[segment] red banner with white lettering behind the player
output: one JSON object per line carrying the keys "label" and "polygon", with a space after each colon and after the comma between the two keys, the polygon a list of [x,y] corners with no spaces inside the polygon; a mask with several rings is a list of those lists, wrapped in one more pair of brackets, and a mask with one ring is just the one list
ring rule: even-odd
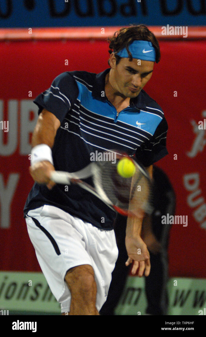
{"label": "red banner with white lettering behind the player", "polygon": [[[161,41],[160,47],[161,61],[144,89],[165,112],[169,155],[158,165],[176,192],[176,215],[187,216],[187,226],[173,224],[171,229],[170,276],[206,277],[206,44]],[[37,120],[33,99],[61,72],[103,71],[108,43],[0,42],[0,50],[0,268],[40,271],[23,218],[33,184],[28,172]]]}

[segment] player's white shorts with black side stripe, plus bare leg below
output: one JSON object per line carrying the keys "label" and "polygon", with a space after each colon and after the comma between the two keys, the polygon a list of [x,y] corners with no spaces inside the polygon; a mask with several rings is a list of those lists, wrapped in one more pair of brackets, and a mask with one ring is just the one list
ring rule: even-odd
{"label": "player's white shorts with black side stripe, plus bare leg below", "polygon": [[102,231],[49,205],[29,211],[26,222],[39,265],[61,311],[98,315],[118,255],[114,231]]}

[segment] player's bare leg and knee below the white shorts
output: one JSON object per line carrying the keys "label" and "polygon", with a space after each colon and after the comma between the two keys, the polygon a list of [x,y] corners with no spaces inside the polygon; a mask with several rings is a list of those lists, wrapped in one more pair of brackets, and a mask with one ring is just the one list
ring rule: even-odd
{"label": "player's bare leg and knee below the white shorts", "polygon": [[68,270],[65,281],[71,292],[69,315],[99,315],[96,308],[97,285],[90,265]]}

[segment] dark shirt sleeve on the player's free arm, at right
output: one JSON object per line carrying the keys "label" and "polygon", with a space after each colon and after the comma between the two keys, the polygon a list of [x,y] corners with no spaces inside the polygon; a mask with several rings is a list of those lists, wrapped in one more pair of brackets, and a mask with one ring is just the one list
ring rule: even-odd
{"label": "dark shirt sleeve on the player's free arm, at right", "polygon": [[168,154],[166,148],[167,130],[167,121],[163,117],[151,139],[136,150],[136,159],[145,167],[152,165]]}

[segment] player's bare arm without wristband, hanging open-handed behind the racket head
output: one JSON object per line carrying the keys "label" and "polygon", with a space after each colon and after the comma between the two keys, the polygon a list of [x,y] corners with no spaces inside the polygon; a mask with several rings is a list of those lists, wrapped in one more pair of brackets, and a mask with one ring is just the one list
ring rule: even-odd
{"label": "player's bare arm without wristband, hanging open-handed behind the racket head", "polygon": [[[152,179],[152,165],[146,167],[150,178]],[[139,268],[138,276],[141,277],[145,270],[145,276],[150,272],[149,252],[146,244],[140,237],[143,218],[128,217],[125,244],[128,253],[126,266],[134,261],[132,274],[135,275]]]}

